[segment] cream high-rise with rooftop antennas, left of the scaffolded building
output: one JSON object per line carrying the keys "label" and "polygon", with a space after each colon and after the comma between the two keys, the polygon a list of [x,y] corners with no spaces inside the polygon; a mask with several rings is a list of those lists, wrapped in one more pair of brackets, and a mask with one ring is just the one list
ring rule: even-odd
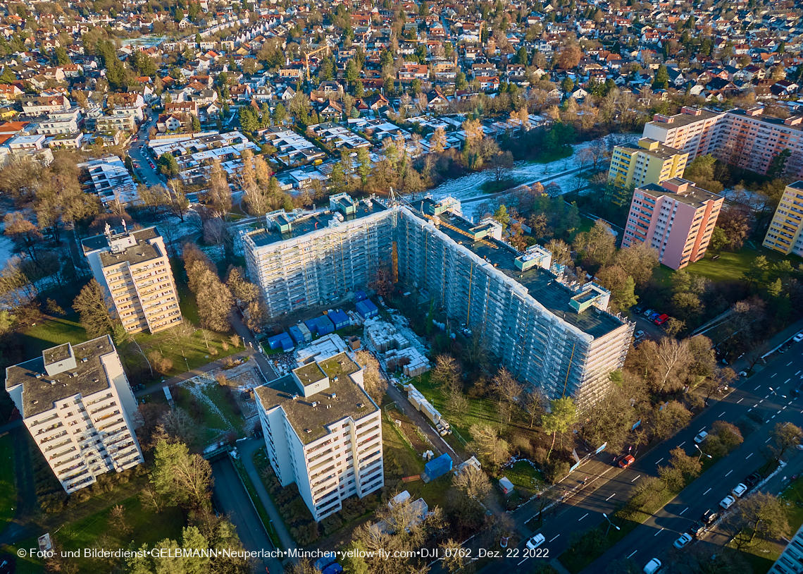
{"label": "cream high-rise with rooftop antennas, left of the scaffolded building", "polygon": [[81,241],[92,274],[114,301],[125,330],[150,333],[181,322],[173,271],[157,228],[112,230]]}

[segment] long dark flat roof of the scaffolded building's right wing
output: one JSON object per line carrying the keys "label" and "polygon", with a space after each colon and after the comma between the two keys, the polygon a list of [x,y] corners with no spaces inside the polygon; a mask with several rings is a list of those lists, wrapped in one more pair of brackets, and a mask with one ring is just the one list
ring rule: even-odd
{"label": "long dark flat roof of the scaffolded building's right wing", "polygon": [[471,237],[464,235],[463,232],[469,232],[475,228],[473,223],[469,223],[449,211],[443,212],[439,217],[442,222],[460,230],[455,231],[455,229],[440,225],[438,228],[441,232],[477,256],[495,264],[496,269],[523,285],[530,296],[569,325],[577,327],[594,338],[603,337],[622,326],[622,321],[613,315],[597,313],[596,307],[578,314],[570,305],[570,301],[580,292],[573,292],[569,287],[561,284],[557,281],[556,276],[546,269],[533,267],[527,271],[521,271],[516,267],[516,257],[520,256],[520,253],[501,241],[491,237],[474,241]]}

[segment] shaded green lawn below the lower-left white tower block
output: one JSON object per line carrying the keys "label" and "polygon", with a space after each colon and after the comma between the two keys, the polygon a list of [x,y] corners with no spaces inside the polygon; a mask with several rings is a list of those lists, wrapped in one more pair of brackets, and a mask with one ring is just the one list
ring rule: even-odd
{"label": "shaded green lawn below the lower-left white tower block", "polygon": [[[120,532],[112,526],[109,515],[112,506],[100,510],[94,515],[75,523],[68,524],[55,535],[55,542],[64,551],[75,551],[82,548],[141,547],[142,544],[152,546],[160,540],[169,538],[181,539],[181,528],[184,527],[183,512],[177,506],[165,507],[158,515],[152,510],[142,507],[139,496],[132,496],[120,502],[124,507],[124,521],[131,528],[130,533]],[[79,558],[75,559],[79,572],[112,572],[113,564]]]}

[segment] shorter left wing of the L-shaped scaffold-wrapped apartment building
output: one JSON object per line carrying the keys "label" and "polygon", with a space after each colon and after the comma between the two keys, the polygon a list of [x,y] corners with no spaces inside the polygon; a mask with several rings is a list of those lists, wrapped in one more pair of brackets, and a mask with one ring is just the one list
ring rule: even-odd
{"label": "shorter left wing of the L-shaped scaffold-wrapped apartment building", "polygon": [[266,228],[243,234],[248,273],[271,317],[365,288],[390,252],[388,215],[377,201],[343,193],[317,211],[268,213]]}

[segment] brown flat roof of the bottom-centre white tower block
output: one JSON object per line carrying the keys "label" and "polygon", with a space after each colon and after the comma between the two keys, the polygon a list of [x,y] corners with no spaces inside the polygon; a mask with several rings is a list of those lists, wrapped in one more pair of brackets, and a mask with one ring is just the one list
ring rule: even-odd
{"label": "brown flat roof of the bottom-centre white tower block", "polygon": [[[322,361],[321,367],[329,377],[329,387],[306,398],[299,396],[300,390],[292,375],[285,375],[254,389],[266,411],[275,407],[283,408],[287,420],[304,445],[325,437],[329,433],[328,426],[338,420],[349,416],[358,420],[379,410],[351,377],[340,376],[357,372],[360,368],[349,359],[349,355],[335,355]],[[332,395],[335,397],[331,398]],[[293,396],[299,398],[294,400]],[[313,407],[313,404],[316,406]]]}

